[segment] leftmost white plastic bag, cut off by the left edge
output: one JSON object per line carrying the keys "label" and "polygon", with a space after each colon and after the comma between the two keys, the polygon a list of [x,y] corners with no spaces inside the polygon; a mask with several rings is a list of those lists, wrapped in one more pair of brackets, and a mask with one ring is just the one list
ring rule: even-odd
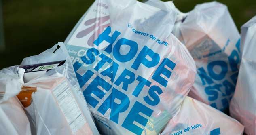
{"label": "leftmost white plastic bag, cut off by the left edge", "polygon": [[31,135],[30,122],[16,97],[21,91],[23,74],[18,66],[0,70],[1,135]]}

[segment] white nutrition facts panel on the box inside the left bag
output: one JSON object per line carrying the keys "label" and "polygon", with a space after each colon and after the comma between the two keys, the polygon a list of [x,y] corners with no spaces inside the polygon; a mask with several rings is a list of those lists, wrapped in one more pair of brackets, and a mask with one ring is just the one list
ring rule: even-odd
{"label": "white nutrition facts panel on the box inside the left bag", "polygon": [[76,133],[86,121],[65,79],[53,89],[53,94],[56,97],[72,132]]}

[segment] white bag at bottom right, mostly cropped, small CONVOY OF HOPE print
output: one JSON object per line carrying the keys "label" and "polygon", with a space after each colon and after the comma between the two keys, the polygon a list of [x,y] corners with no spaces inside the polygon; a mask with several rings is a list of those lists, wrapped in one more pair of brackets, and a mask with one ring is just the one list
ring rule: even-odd
{"label": "white bag at bottom right, mostly cropped, small CONVOY OF HOPE print", "polygon": [[226,114],[186,97],[161,135],[243,135],[243,125]]}

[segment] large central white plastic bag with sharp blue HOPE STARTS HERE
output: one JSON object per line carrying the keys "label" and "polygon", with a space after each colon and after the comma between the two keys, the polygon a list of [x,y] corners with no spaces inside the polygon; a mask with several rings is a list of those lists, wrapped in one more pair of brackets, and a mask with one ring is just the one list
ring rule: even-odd
{"label": "large central white plastic bag with sharp blue HOPE STARTS HERE", "polygon": [[151,2],[96,0],[65,41],[102,134],[159,134],[193,85],[173,3]]}

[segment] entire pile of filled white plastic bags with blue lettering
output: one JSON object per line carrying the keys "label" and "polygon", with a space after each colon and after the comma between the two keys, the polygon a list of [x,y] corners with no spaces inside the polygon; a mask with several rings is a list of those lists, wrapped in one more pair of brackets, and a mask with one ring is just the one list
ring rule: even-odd
{"label": "entire pile of filled white plastic bags with blue lettering", "polygon": [[0,134],[255,135],[255,31],[240,49],[218,2],[95,0],[64,43],[0,70]]}

